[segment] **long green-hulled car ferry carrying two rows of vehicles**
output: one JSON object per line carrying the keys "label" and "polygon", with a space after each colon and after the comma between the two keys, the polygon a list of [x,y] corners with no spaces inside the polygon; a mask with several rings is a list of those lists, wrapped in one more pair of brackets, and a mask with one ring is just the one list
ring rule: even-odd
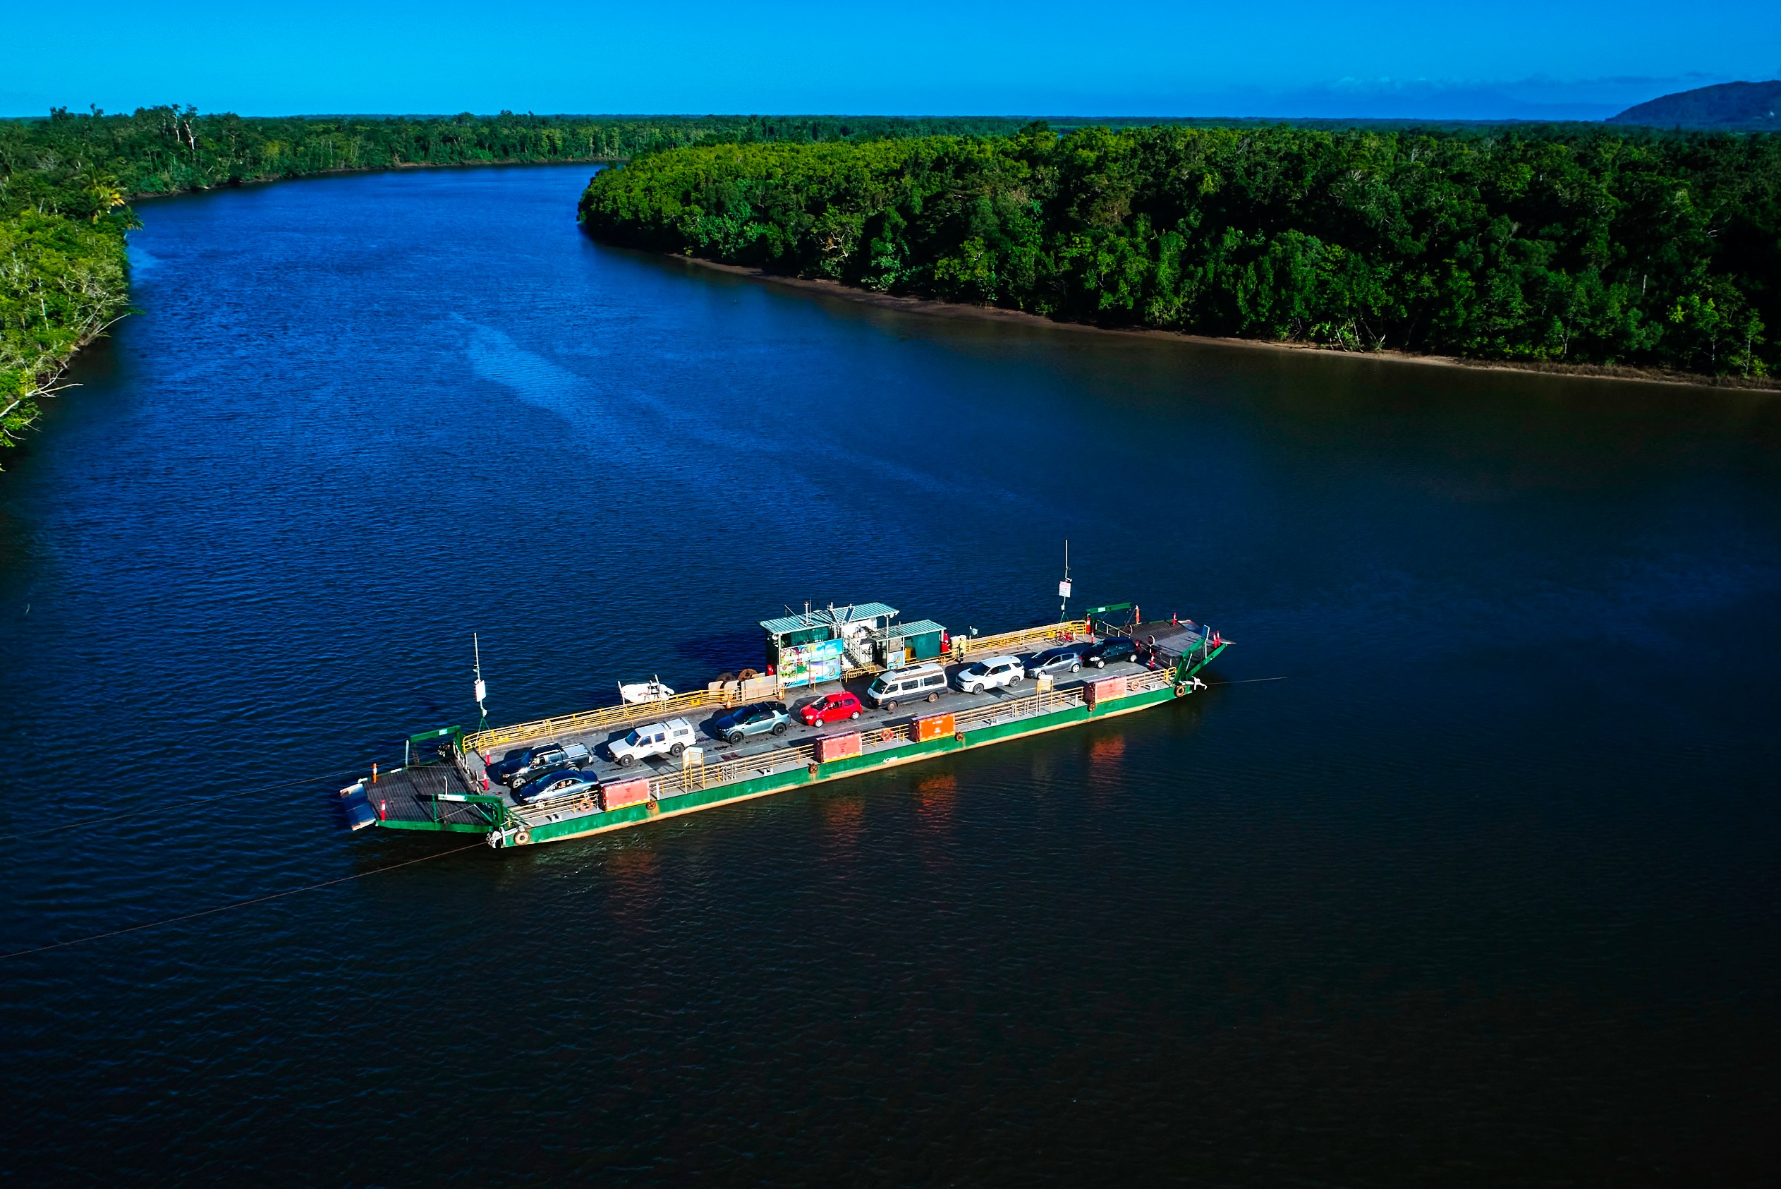
{"label": "long green-hulled car ferry carrying two rows of vehicles", "polygon": [[[1124,622],[1108,619],[1120,611]],[[648,690],[645,702],[410,736],[401,767],[374,765],[340,790],[347,825],[484,834],[497,850],[629,829],[1149,709],[1204,688],[1197,674],[1229,647],[1191,620],[1145,622],[1127,603],[990,636],[896,619],[894,608],[867,603],[760,620],[764,674],[744,668],[684,693],[654,681],[634,686]],[[899,681],[915,670],[924,677]],[[931,679],[937,670],[944,688]],[[985,674],[1001,676],[985,683]],[[760,708],[771,729],[732,731],[744,708]],[[636,742],[666,724],[679,724],[675,742],[638,759]],[[568,758],[557,770],[575,777],[556,783],[568,793],[533,784],[527,797],[502,783],[515,763],[557,749]]]}

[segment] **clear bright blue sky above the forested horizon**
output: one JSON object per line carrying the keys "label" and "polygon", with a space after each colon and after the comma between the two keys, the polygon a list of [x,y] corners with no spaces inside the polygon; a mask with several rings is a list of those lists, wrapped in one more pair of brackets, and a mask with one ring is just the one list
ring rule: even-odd
{"label": "clear bright blue sky above the forested horizon", "polygon": [[1492,5],[0,0],[0,114],[1610,116],[1781,77],[1769,0]]}

